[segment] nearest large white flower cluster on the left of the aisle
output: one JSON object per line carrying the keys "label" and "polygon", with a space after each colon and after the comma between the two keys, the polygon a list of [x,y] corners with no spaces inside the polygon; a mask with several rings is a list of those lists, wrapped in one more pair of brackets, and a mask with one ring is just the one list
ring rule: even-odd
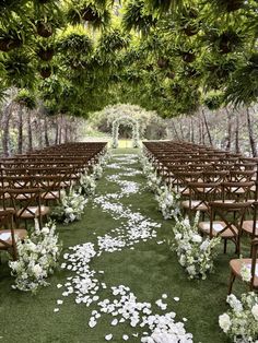
{"label": "nearest large white flower cluster on the left of the aisle", "polygon": [[54,273],[61,250],[55,223],[39,229],[35,221],[35,232],[24,241],[19,240],[16,246],[19,260],[9,262],[15,277],[12,288],[35,293],[39,286],[49,285],[46,279]]}

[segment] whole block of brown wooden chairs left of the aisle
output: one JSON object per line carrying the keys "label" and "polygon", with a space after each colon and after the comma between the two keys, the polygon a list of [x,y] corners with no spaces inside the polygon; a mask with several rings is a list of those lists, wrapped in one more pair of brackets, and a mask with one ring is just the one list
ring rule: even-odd
{"label": "whole block of brown wooden chairs left of the aisle", "polygon": [[15,260],[15,239],[27,236],[27,221],[37,218],[42,227],[49,204],[105,152],[106,143],[68,143],[0,159],[0,250]]}

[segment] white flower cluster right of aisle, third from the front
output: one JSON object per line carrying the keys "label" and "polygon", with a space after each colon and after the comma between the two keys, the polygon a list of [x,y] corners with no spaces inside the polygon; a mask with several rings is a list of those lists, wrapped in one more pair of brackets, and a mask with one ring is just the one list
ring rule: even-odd
{"label": "white flower cluster right of aisle, third from the front", "polygon": [[157,189],[155,199],[164,220],[180,215],[180,194],[175,190],[163,186],[160,190]]}

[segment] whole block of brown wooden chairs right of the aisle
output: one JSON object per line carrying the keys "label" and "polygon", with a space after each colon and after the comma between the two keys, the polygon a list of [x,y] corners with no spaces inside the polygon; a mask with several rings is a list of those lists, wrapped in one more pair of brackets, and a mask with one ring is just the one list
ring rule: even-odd
{"label": "whole block of brown wooden chairs right of the aisle", "polygon": [[[258,159],[186,142],[144,142],[143,146],[164,182],[180,193],[183,214],[201,213],[202,235],[221,236],[224,252],[232,240],[238,256],[243,233],[251,238],[251,258],[244,263],[250,265],[250,288],[258,287]],[[230,263],[230,293],[242,263],[241,259]]]}

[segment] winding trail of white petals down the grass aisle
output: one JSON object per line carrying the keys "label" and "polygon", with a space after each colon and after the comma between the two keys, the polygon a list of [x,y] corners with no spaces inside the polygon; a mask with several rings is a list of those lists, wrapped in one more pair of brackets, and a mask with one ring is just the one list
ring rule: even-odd
{"label": "winding trail of white petals down the grass aisle", "polygon": [[[97,247],[92,243],[85,243],[70,247],[70,253],[64,253],[66,260],[61,268],[74,272],[73,276],[67,277],[64,285],[57,285],[62,288],[62,296],[75,295],[77,304],[85,306],[97,305],[98,310],[93,310],[89,320],[89,327],[94,328],[102,315],[108,314],[110,318],[110,332],[107,332],[103,341],[118,339],[119,342],[128,341],[130,338],[139,338],[142,343],[185,343],[192,342],[192,335],[187,333],[184,322],[176,322],[175,312],[154,315],[150,303],[140,303],[137,296],[128,286],[118,285],[110,287],[110,298],[101,298],[101,291],[107,285],[103,282],[104,271],[95,271],[91,265],[92,259],[99,257],[103,252],[120,251],[125,248],[134,249],[133,245],[139,241],[146,241],[156,237],[155,228],[161,227],[140,212],[132,212],[130,206],[119,202],[124,197],[140,193],[141,185],[134,181],[124,180],[124,177],[141,174],[140,170],[129,167],[138,163],[137,155],[114,155],[114,163],[107,165],[109,169],[116,169],[116,174],[107,176],[106,179],[120,187],[119,192],[106,193],[94,199],[94,205],[102,211],[112,214],[114,220],[122,220],[120,227],[114,228],[104,236],[97,237]],[[160,244],[160,243],[157,243]],[[155,301],[155,306],[161,310],[166,310],[167,295],[163,294],[161,299]],[[174,297],[179,301],[178,297]],[[63,300],[57,300],[57,305],[62,305]],[[54,309],[59,311],[59,307]],[[187,319],[184,318],[183,321]],[[121,338],[113,336],[112,327],[122,322],[129,322],[133,328],[133,333],[125,333]],[[144,332],[139,333],[137,328],[144,328]]]}

